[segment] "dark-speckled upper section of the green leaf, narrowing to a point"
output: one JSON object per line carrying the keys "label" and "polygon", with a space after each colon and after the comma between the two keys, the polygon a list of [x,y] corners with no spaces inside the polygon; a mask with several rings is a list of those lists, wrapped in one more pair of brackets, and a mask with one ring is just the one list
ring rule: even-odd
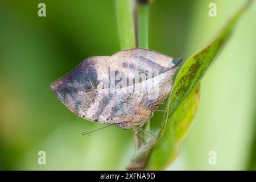
{"label": "dark-speckled upper section of the green leaf, narrowing to a point", "polygon": [[246,3],[246,6],[240,9],[232,19],[226,23],[226,26],[222,28],[216,38],[207,47],[195,53],[185,62],[176,77],[174,89],[172,90],[171,112],[179,106],[185,96],[187,96],[201,78],[203,78],[205,72],[216,59],[218,53],[221,52],[226,42],[228,42],[234,25],[248,6],[249,3]]}

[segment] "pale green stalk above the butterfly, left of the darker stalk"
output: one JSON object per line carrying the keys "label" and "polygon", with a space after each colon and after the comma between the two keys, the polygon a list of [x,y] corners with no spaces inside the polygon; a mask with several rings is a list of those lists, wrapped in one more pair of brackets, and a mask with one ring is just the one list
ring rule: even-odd
{"label": "pale green stalk above the butterfly, left of the darker stalk", "polygon": [[115,0],[115,9],[121,50],[135,48],[133,1]]}

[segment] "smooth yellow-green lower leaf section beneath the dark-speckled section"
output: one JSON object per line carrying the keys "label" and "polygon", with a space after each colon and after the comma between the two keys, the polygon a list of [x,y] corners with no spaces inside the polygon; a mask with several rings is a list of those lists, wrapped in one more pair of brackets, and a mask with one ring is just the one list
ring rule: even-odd
{"label": "smooth yellow-green lower leaf section beneath the dark-speckled section", "polygon": [[164,118],[167,123],[163,137],[150,151],[146,169],[161,170],[169,166],[179,150],[179,143],[187,134],[196,114],[200,98],[200,84],[181,102],[174,114]]}

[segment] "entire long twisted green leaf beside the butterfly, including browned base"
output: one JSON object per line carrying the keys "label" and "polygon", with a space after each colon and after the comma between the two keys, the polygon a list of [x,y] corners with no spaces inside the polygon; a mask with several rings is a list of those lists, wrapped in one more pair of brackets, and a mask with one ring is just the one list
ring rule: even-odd
{"label": "entire long twisted green leaf beside the butterfly, including browned base", "polygon": [[[146,169],[163,169],[175,158],[178,144],[187,133],[193,118],[193,111],[196,108],[196,104],[192,105],[190,103],[192,98],[198,97],[197,93],[199,92],[195,91],[197,89],[196,86],[222,48],[224,48],[226,42],[228,42],[237,20],[251,2],[247,1],[246,5],[226,23],[225,27],[222,28],[207,47],[185,61],[185,64],[176,76],[162,124],[156,130],[155,137],[148,139],[135,152],[129,163],[129,169],[143,168],[147,158]],[[192,90],[194,91],[192,92]],[[194,94],[194,96],[189,95],[189,93]],[[189,97],[187,97],[188,95]],[[177,119],[180,119],[180,123]],[[181,126],[183,129],[180,128]]]}

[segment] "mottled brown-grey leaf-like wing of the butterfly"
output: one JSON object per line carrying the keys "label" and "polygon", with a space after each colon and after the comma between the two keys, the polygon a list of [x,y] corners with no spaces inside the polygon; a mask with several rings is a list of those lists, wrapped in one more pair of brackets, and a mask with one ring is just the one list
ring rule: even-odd
{"label": "mottled brown-grey leaf-like wing of the butterfly", "polygon": [[[51,88],[69,110],[89,121],[108,124],[144,121],[156,109],[152,109],[151,105],[164,100],[170,93],[176,71],[173,60],[147,49],[129,49],[113,56],[89,57],[53,83]],[[135,84],[141,73],[146,76],[158,73],[158,76],[150,79],[151,82],[147,80]],[[150,99],[152,94],[145,94],[136,88],[143,84],[152,88],[152,81],[158,83],[153,88],[159,87],[159,95]]]}

